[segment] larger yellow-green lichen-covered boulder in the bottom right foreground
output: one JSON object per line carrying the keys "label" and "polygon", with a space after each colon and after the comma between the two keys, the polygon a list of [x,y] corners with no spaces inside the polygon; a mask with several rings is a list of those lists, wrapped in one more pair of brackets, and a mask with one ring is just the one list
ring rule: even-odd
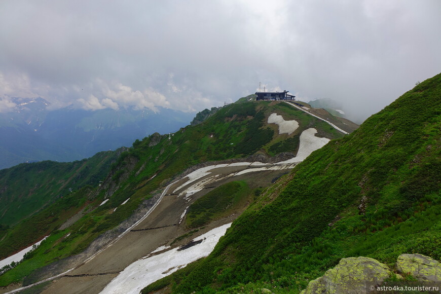
{"label": "larger yellow-green lichen-covered boulder in the bottom right foreground", "polygon": [[389,278],[389,268],[377,260],[358,257],[341,259],[333,269],[313,281],[301,294],[315,293],[365,293],[366,283],[380,284]]}

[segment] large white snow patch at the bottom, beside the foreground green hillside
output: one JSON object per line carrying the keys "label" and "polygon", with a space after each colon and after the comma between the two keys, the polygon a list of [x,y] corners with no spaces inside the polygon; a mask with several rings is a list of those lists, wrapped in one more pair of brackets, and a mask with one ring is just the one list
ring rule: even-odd
{"label": "large white snow patch at the bottom, beside the foreground green hillside", "polygon": [[139,259],[108,283],[101,294],[139,293],[143,287],[210,254],[219,238],[230,226],[231,223],[220,226],[195,238],[193,241],[202,240],[202,242],[185,250],[178,251],[179,248],[174,248],[158,255]]}

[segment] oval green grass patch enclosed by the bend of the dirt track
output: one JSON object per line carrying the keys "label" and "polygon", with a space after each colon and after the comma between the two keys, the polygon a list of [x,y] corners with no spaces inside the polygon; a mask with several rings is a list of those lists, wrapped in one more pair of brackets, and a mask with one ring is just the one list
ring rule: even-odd
{"label": "oval green grass patch enclosed by the bend of the dirt track", "polygon": [[186,217],[187,226],[198,228],[212,222],[234,209],[249,193],[249,187],[244,181],[233,181],[217,187],[190,205]]}

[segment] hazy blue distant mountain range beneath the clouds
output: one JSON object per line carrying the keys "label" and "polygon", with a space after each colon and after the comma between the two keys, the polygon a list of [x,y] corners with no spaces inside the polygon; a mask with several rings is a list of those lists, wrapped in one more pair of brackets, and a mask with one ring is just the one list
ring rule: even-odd
{"label": "hazy blue distant mountain range beneath the clouds", "polygon": [[43,98],[11,98],[14,112],[0,115],[0,169],[41,160],[72,161],[130,146],[154,132],[175,132],[194,113],[158,107],[85,111],[71,106],[49,111]]}

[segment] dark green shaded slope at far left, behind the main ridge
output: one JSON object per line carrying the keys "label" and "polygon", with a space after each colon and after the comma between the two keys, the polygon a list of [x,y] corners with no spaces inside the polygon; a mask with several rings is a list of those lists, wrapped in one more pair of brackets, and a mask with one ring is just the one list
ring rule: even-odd
{"label": "dark green shaded slope at far left, behind the main ridge", "polygon": [[75,162],[42,161],[0,170],[0,224],[15,225],[72,190],[97,186],[118,152]]}

